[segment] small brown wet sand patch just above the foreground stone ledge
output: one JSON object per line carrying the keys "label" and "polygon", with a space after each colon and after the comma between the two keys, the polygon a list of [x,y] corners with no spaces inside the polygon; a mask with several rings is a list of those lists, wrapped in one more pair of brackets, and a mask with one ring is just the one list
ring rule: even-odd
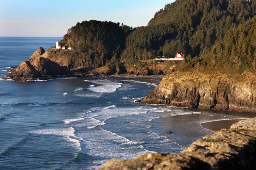
{"label": "small brown wet sand patch just above the foreground stone ledge", "polygon": [[221,120],[221,121],[201,123],[201,125],[206,129],[217,131],[223,128],[229,129],[232,124],[237,123],[239,121],[240,120]]}

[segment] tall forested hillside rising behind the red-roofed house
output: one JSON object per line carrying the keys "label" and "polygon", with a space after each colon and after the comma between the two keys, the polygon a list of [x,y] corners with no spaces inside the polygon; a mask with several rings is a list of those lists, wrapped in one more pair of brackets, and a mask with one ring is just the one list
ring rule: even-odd
{"label": "tall forested hillside rising behind the red-roofed house", "polygon": [[126,39],[123,60],[185,53],[188,58],[210,52],[230,28],[256,14],[255,0],[176,0],[156,12],[148,26],[136,28]]}

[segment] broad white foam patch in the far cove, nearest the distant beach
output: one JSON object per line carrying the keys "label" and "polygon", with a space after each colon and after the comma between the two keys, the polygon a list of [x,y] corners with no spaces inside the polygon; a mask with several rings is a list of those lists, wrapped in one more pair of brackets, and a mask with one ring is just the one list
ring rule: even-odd
{"label": "broad white foam patch in the far cove, nearest the distant beach", "polygon": [[91,81],[95,84],[100,84],[100,86],[88,87],[88,90],[98,93],[111,93],[115,92],[117,88],[121,87],[122,83],[118,83],[116,81],[108,81],[108,80],[93,80]]}

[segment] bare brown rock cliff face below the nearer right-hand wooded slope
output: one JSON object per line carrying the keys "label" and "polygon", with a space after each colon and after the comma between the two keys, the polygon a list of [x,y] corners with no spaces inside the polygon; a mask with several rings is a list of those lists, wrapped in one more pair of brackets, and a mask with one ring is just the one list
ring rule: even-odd
{"label": "bare brown rock cliff face below the nearer right-hand wooded slope", "polygon": [[174,72],[138,102],[177,107],[256,112],[256,81],[249,73],[237,81],[223,73]]}

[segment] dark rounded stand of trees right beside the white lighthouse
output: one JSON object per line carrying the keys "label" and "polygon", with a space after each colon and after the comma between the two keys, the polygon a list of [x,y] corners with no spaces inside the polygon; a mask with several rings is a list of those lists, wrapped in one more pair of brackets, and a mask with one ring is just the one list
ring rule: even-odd
{"label": "dark rounded stand of trees right beside the white lighthouse", "polygon": [[[61,46],[73,46],[80,57],[90,58],[93,66],[101,67],[112,57],[118,58],[125,47],[125,39],[132,27],[111,21],[83,21],[68,29]],[[74,57],[74,56],[73,56]]]}

